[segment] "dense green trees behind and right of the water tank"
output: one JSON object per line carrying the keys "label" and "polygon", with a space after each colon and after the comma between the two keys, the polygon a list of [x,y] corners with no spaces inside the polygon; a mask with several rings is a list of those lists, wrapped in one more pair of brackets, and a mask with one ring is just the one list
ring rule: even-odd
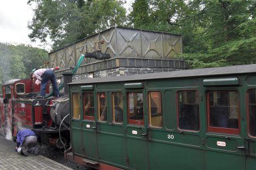
{"label": "dense green trees behind and right of the water tank", "polygon": [[[256,63],[255,1],[151,0],[148,7],[150,21],[137,28],[182,35],[178,57],[192,68]],[[132,16],[136,12],[134,8]]]}

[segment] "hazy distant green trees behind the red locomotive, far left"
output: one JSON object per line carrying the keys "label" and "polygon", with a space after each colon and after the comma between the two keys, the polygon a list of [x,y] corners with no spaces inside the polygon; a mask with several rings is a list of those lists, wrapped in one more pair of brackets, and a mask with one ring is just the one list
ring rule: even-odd
{"label": "hazy distant green trees behind the red locomotive, far left", "polygon": [[0,43],[0,84],[10,79],[29,78],[34,68],[46,67],[46,50],[32,48],[24,44],[11,45]]}

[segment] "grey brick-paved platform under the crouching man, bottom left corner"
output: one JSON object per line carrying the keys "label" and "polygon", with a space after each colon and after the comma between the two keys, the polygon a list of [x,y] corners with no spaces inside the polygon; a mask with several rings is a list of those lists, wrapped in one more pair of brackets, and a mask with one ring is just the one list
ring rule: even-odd
{"label": "grey brick-paved platform under the crouching man, bottom left corner", "polygon": [[19,155],[15,143],[0,135],[0,169],[71,169],[42,155]]}

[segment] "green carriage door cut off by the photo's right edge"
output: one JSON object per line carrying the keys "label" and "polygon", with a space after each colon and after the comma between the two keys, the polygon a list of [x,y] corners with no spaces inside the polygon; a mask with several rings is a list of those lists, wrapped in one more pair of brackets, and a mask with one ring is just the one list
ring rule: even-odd
{"label": "green carriage door cut off by the photo's right edge", "polygon": [[247,91],[247,138],[246,145],[246,169],[251,170],[256,167],[256,90]]}

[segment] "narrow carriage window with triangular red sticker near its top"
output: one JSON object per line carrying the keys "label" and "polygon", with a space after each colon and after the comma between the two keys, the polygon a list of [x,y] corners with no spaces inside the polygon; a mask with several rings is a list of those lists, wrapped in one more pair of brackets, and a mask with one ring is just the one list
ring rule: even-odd
{"label": "narrow carriage window with triangular red sticker near its top", "polygon": [[107,120],[107,105],[105,92],[98,93],[98,118],[100,121]]}

